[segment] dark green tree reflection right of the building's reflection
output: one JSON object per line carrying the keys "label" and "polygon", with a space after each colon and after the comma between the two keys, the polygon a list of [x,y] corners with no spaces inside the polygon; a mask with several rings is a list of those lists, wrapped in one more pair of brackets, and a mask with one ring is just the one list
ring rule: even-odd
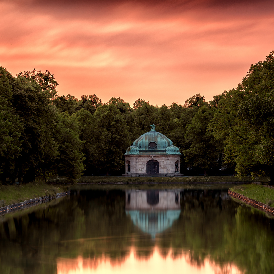
{"label": "dark green tree reflection right of the building's reflection", "polygon": [[190,250],[189,262],[198,266],[209,257],[224,267],[223,273],[232,262],[247,273],[273,273],[273,219],[223,199],[222,194],[204,190],[182,193],[181,216],[174,222],[171,236],[161,237],[161,246]]}

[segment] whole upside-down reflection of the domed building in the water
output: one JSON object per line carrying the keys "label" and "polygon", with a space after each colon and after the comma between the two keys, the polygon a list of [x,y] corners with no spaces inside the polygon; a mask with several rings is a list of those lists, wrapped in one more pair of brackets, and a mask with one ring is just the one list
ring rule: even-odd
{"label": "whole upside-down reflection of the domed building in the water", "polygon": [[144,233],[161,233],[179,218],[180,192],[173,190],[127,190],[125,209]]}

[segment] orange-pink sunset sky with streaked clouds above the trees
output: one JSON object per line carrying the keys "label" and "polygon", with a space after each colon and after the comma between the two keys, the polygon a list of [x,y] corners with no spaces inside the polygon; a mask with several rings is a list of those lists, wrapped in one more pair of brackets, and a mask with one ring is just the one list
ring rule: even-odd
{"label": "orange-pink sunset sky with streaked clouds above the trees", "polygon": [[274,50],[274,1],[0,0],[0,66],[49,70],[59,95],[206,101]]}

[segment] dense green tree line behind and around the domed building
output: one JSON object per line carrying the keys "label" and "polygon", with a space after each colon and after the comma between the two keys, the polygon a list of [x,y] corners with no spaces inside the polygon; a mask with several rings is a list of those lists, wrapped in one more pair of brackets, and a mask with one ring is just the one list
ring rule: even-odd
{"label": "dense green tree line behind and around the domed building", "polygon": [[274,51],[251,65],[237,88],[205,101],[133,107],[121,98],[102,103],[95,94],[81,100],[58,96],[50,72],[0,67],[0,180],[121,175],[124,153],[150,124],[170,138],[181,157],[181,173],[222,172],[270,176],[274,181]]}

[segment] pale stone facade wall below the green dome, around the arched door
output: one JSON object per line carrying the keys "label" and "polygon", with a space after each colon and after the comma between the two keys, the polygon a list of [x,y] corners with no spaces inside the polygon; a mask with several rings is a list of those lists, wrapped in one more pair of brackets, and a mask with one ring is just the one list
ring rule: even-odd
{"label": "pale stone facade wall below the green dome, around the arched door", "polygon": [[[125,155],[125,175],[147,176],[147,162],[156,160],[159,162],[159,176],[183,176],[180,174],[181,155]],[[178,171],[175,172],[175,164],[178,163]],[[130,172],[128,171],[130,164]]]}

